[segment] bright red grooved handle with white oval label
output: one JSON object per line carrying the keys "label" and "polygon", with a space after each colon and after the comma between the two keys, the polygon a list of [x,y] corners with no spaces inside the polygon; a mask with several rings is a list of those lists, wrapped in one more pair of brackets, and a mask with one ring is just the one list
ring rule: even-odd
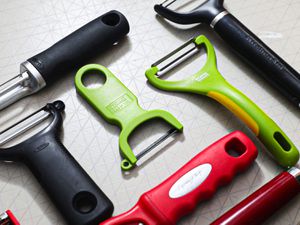
{"label": "bright red grooved handle with white oval label", "polygon": [[[233,157],[230,151],[240,156]],[[175,224],[192,212],[198,202],[211,198],[219,186],[249,167],[256,156],[256,147],[245,134],[231,133],[203,150],[147,195],[170,224]]]}

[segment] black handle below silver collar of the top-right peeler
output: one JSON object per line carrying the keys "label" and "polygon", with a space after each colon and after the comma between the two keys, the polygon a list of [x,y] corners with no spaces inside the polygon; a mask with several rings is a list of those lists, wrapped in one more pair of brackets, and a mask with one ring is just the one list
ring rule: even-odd
{"label": "black handle below silver collar of the top-right peeler", "polygon": [[300,107],[300,74],[295,69],[231,14],[224,16],[214,29],[268,82]]}

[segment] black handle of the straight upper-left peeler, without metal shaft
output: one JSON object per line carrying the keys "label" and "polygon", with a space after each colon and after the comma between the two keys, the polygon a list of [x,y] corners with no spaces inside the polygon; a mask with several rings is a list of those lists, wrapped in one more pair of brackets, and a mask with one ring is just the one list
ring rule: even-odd
{"label": "black handle of the straight upper-left peeler, without metal shaft", "polygon": [[46,84],[64,73],[75,71],[87,60],[101,53],[129,32],[123,14],[110,11],[89,22],[29,61],[43,76]]}

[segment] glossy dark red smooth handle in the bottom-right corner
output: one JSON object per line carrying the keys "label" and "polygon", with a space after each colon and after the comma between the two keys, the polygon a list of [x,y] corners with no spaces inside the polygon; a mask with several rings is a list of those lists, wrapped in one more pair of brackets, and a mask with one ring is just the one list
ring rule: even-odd
{"label": "glossy dark red smooth handle in the bottom-right corner", "polygon": [[260,225],[300,192],[300,183],[283,172],[211,225]]}

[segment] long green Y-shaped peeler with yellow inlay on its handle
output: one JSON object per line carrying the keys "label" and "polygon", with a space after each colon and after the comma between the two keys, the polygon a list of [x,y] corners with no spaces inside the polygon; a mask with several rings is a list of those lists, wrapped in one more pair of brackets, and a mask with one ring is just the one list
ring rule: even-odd
{"label": "long green Y-shaped peeler with yellow inlay on its handle", "polygon": [[[159,78],[203,48],[207,53],[207,61],[199,72],[180,81],[167,81]],[[185,49],[188,50],[185,51]],[[184,53],[166,66],[159,67],[179,51],[184,51]],[[154,63],[146,71],[146,77],[153,86],[162,90],[192,92],[215,99],[253,131],[280,165],[291,167],[298,162],[299,152],[286,134],[257,105],[231,86],[219,73],[214,48],[205,36],[191,39]]]}

